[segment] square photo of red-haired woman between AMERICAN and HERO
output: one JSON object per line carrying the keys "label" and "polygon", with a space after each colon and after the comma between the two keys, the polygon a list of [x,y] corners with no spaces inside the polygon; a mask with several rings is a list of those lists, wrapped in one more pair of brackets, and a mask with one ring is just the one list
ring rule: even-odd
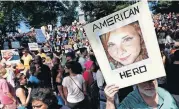
{"label": "square photo of red-haired woman between AMERICAN and HERO", "polygon": [[103,34],[100,38],[112,69],[148,58],[138,21]]}

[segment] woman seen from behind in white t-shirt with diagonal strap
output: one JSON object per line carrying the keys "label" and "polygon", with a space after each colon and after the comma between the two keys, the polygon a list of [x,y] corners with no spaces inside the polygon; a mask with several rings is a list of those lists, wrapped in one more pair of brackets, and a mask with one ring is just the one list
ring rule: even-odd
{"label": "woman seen from behind in white t-shirt with diagonal strap", "polygon": [[83,76],[77,74],[77,63],[75,61],[66,63],[66,72],[69,72],[69,76],[63,79],[63,91],[65,94],[65,102],[67,106],[72,109],[84,109],[85,106],[85,94],[86,85]]}

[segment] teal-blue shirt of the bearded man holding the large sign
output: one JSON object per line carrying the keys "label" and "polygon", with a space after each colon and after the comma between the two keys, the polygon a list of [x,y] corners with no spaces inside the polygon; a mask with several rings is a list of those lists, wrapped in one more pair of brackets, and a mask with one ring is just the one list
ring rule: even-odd
{"label": "teal-blue shirt of the bearded man holding the large sign", "polygon": [[[169,92],[158,87],[157,93],[159,95],[158,109],[179,109],[176,101]],[[143,100],[138,88],[132,91],[118,106],[117,109],[153,109]]]}

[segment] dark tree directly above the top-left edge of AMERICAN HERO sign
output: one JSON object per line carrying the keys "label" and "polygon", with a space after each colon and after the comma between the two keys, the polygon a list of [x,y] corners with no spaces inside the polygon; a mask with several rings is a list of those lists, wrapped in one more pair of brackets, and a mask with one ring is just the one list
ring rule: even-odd
{"label": "dark tree directly above the top-left edge of AMERICAN HERO sign", "polygon": [[85,12],[88,22],[100,19],[115,11],[123,9],[134,1],[81,1],[81,9]]}

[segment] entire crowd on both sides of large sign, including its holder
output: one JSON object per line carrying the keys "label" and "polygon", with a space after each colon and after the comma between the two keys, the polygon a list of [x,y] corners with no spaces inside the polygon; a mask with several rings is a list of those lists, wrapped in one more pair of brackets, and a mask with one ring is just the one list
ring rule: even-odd
{"label": "entire crowd on both sides of large sign, including its holder", "polygon": [[[153,19],[167,76],[123,89],[106,86],[83,25],[78,22],[53,29],[44,26],[47,41],[38,43],[37,51],[28,48],[28,43],[36,42],[34,29],[4,39],[4,49],[12,49],[13,41],[20,43],[20,63],[0,64],[0,108],[178,109],[179,16],[157,14]],[[101,101],[106,106],[100,107]]]}

